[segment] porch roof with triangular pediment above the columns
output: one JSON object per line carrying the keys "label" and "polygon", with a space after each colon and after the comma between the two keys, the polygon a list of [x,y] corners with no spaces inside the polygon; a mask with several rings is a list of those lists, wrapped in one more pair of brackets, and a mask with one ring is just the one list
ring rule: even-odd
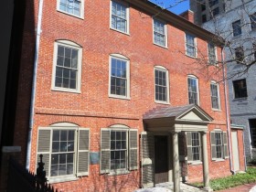
{"label": "porch roof with triangular pediment above the columns", "polygon": [[180,132],[208,131],[208,123],[213,118],[196,104],[177,107],[156,107],[144,113],[144,126],[147,131]]}

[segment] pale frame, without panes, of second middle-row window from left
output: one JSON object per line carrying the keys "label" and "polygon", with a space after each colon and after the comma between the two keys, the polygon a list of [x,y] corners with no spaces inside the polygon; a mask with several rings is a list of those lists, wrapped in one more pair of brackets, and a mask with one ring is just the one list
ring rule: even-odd
{"label": "pale frame, without panes, of second middle-row window from left", "polygon": [[[126,95],[116,95],[111,93],[112,86],[112,58],[120,59],[126,62]],[[124,100],[130,100],[130,59],[120,54],[111,54],[109,57],[109,97]]]}

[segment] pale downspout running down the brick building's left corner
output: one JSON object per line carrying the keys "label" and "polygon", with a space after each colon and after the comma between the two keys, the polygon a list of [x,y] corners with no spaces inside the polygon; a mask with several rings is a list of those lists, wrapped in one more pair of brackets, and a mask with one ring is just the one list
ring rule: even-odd
{"label": "pale downspout running down the brick building's left corner", "polygon": [[36,50],[35,50],[34,69],[33,69],[33,82],[32,82],[31,101],[30,101],[29,130],[28,130],[28,136],[27,136],[27,162],[26,162],[27,170],[29,170],[29,165],[30,165],[31,139],[32,139],[33,124],[34,124],[35,98],[36,98],[36,89],[37,89],[38,50],[39,50],[40,35],[41,35],[43,2],[44,2],[44,0],[39,0],[39,7],[38,7],[37,39],[36,39]]}

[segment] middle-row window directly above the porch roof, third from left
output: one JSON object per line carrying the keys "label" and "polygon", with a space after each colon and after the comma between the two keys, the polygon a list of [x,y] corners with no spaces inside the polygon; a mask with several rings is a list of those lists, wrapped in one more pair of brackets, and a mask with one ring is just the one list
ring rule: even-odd
{"label": "middle-row window directly above the porch roof, third from left", "polygon": [[168,71],[164,67],[155,67],[155,101],[169,102]]}

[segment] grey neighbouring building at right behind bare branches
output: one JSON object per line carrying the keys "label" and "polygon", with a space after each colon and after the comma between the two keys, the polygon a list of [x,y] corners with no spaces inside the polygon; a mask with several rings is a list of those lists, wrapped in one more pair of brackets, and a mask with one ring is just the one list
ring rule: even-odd
{"label": "grey neighbouring building at right behind bare branches", "polygon": [[228,1],[225,3],[226,12],[202,25],[229,41],[225,54],[228,63],[231,123],[244,127],[247,161],[255,158],[256,144],[256,89],[253,83],[256,77],[256,68],[253,65],[256,37],[255,5],[254,0]]}

